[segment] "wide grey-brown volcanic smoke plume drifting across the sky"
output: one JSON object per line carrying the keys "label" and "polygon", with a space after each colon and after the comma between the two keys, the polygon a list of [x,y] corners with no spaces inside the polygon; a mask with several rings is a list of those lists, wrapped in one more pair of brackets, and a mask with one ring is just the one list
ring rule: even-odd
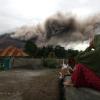
{"label": "wide grey-brown volcanic smoke plume drifting across the sky", "polygon": [[24,26],[16,30],[12,37],[31,39],[39,46],[88,40],[100,29],[100,15],[83,21],[73,15],[58,13],[49,17],[43,24]]}

